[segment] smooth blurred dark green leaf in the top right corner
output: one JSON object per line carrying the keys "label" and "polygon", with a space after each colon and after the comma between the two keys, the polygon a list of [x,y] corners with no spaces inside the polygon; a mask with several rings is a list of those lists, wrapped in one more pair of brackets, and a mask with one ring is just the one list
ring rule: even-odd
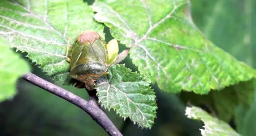
{"label": "smooth blurred dark green leaf in the top right corner", "polygon": [[256,68],[256,1],[191,0],[191,3],[193,20],[206,37]]}

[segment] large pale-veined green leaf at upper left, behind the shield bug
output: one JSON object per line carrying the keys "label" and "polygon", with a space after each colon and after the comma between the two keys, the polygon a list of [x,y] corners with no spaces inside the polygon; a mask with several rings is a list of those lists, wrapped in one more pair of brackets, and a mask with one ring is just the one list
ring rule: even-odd
{"label": "large pale-veined green leaf at upper left, behind the shield bug", "polygon": [[92,9],[82,0],[1,0],[0,36],[12,48],[28,52],[32,62],[54,82],[67,84],[68,38],[73,42],[85,30],[94,30],[104,38],[104,26],[93,16]]}

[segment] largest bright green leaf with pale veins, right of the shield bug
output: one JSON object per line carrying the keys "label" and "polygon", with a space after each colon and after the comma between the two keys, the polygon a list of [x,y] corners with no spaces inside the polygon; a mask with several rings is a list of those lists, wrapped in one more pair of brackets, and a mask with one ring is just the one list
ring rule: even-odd
{"label": "largest bright green leaf with pale veins, right of the shield bug", "polygon": [[207,94],[255,77],[254,69],[198,30],[190,19],[188,2],[98,0],[92,8],[94,18],[130,48],[138,70],[164,91]]}

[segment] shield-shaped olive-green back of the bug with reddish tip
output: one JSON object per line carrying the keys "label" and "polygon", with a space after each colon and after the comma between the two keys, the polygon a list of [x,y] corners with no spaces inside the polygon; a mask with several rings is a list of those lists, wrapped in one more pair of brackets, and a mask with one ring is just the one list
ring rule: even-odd
{"label": "shield-shaped olive-green back of the bug with reddish tip", "polygon": [[94,31],[83,32],[70,52],[70,76],[85,84],[92,84],[106,74],[106,61],[106,42]]}

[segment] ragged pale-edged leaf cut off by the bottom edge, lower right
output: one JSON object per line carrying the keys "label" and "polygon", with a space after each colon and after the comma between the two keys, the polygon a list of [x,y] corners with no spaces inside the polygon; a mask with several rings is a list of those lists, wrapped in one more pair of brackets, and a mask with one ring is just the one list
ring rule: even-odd
{"label": "ragged pale-edged leaf cut off by the bottom edge, lower right", "polygon": [[240,136],[226,122],[212,117],[201,108],[187,107],[186,116],[204,123],[204,129],[200,129],[202,136]]}

